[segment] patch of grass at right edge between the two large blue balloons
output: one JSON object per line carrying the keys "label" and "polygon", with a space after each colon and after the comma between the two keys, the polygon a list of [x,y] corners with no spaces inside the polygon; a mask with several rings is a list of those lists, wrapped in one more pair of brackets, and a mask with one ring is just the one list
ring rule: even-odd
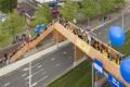
{"label": "patch of grass at right edge between the two large blue balloons", "polygon": [[121,47],[116,48],[116,50],[123,54],[130,54],[130,30],[127,33],[126,42]]}

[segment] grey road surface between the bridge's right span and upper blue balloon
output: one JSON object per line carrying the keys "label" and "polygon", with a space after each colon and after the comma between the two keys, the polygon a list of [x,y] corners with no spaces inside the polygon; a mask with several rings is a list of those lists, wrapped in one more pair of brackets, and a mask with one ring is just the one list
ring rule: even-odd
{"label": "grey road surface between the bridge's right span and upper blue balloon", "polygon": [[[103,26],[103,27],[100,27],[99,29],[95,29],[93,30],[93,33],[95,34],[95,36],[102,40],[103,42],[106,42],[108,44],[108,37],[107,37],[107,30],[108,28],[114,25],[114,24],[117,24],[117,25],[122,25],[122,18],[119,17],[118,20]],[[125,15],[125,30],[129,30],[130,29],[130,14],[127,14]]]}

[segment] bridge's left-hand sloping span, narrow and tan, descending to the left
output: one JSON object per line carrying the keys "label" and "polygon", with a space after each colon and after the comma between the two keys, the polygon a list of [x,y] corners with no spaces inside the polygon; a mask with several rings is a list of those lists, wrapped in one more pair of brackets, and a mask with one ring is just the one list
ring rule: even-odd
{"label": "bridge's left-hand sloping span, narrow and tan, descending to the left", "polygon": [[11,63],[21,59],[21,57],[29,51],[30,49],[35,48],[48,34],[52,32],[52,27],[54,22],[50,23],[43,30],[41,30],[36,37],[24,41],[16,50],[14,50],[10,54]]}

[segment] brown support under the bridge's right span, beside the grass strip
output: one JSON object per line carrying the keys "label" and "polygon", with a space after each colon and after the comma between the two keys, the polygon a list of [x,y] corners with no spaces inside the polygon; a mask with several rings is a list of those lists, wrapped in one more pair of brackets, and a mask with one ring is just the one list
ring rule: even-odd
{"label": "brown support under the bridge's right span, beside the grass strip", "polygon": [[79,48],[77,48],[76,46],[74,46],[74,66],[76,66],[77,64],[79,64],[80,62],[82,62],[83,60],[86,60],[86,54],[84,52],[82,52]]}

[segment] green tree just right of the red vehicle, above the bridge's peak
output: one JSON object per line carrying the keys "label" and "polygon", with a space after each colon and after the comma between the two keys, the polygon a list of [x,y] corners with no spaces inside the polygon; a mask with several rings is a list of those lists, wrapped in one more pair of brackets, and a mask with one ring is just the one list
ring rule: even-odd
{"label": "green tree just right of the red vehicle, above the bridge's peak", "polygon": [[78,12],[78,4],[67,0],[64,7],[61,7],[60,12],[65,18],[73,21],[73,18],[75,18],[74,15]]}

